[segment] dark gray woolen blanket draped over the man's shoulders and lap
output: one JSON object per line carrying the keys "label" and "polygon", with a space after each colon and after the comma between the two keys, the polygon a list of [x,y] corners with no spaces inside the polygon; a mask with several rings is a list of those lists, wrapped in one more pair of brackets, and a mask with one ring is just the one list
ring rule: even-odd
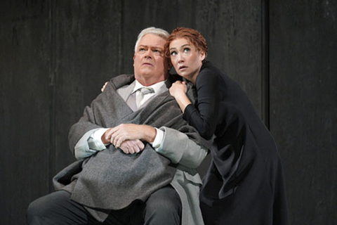
{"label": "dark gray woolen blanket draped over the man's shoulders and lap", "polygon": [[[144,108],[133,112],[116,92],[133,80],[133,75],[121,75],[110,80],[105,91],[91,103],[91,107],[85,108],[83,117],[70,129],[71,149],[87,131],[115,127],[121,123],[171,127],[206,145],[197,131],[183,120],[180,108],[169,91],[152,98]],[[151,193],[170,184],[175,172],[176,165],[159,155],[148,143],[142,152],[134,155],[126,155],[110,145],[90,158],[66,167],[54,177],[53,182],[56,190],[70,191],[72,200],[91,208],[89,212],[103,221],[109,210],[119,210],[134,200],[145,201]]]}

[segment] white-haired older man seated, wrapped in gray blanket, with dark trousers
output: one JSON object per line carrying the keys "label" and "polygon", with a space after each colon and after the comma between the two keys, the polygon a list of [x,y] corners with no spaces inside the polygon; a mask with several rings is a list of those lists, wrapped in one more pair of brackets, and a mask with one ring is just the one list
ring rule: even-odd
{"label": "white-haired older man seated, wrapped in gray blanket, with dark trousers", "polygon": [[203,224],[195,168],[209,143],[169,95],[168,35],[140,32],[134,75],[111,79],[72,126],[78,160],[54,177],[58,191],[29,205],[28,224]]}

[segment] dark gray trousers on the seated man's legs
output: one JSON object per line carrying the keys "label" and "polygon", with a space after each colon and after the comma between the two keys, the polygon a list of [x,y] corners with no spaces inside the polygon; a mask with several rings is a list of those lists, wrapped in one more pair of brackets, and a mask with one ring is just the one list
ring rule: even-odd
{"label": "dark gray trousers on the seated man's legs", "polygon": [[27,224],[180,224],[181,201],[171,186],[155,191],[145,203],[112,210],[103,223],[70,197],[67,191],[56,191],[34,200],[27,210]]}

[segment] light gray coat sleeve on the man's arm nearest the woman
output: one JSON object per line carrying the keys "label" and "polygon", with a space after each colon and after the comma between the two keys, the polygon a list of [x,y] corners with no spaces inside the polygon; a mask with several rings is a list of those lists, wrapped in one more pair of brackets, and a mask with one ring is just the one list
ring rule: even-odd
{"label": "light gray coat sleeve on the man's arm nearest the woman", "polygon": [[160,129],[165,134],[161,145],[156,149],[157,153],[169,158],[175,164],[190,168],[199,167],[207,155],[207,148],[199,146],[186,134],[176,129],[169,127],[161,127]]}

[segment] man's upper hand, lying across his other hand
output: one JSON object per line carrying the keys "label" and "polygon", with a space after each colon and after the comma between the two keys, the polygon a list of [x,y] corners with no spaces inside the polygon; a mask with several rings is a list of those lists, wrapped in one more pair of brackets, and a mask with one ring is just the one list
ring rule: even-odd
{"label": "man's upper hand, lying across his other hand", "polygon": [[120,124],[117,127],[107,129],[102,136],[104,144],[112,143],[116,148],[126,140],[141,140],[151,143],[156,137],[157,131],[154,127],[138,124]]}

